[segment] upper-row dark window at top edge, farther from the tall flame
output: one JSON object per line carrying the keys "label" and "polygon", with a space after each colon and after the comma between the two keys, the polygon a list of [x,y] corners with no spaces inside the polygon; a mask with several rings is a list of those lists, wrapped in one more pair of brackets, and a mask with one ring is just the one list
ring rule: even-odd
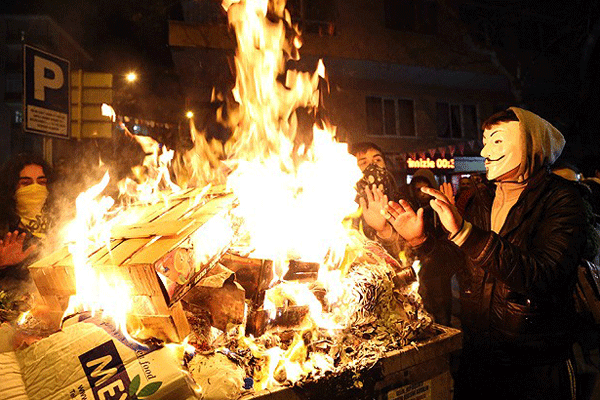
{"label": "upper-row dark window at top edge, farther from the tall flame", "polygon": [[437,3],[433,0],[386,0],[384,12],[388,29],[437,33]]}

